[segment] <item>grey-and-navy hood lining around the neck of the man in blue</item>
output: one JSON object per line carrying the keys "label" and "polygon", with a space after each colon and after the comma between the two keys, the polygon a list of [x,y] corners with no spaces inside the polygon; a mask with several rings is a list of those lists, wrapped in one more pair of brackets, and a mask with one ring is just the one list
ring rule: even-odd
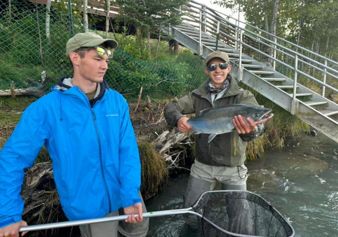
{"label": "grey-and-navy hood lining around the neck of the man in blue", "polygon": [[[66,91],[72,88],[74,85],[72,84],[73,77],[62,77],[57,82],[56,86],[52,89],[59,91]],[[94,99],[90,100],[90,104],[93,106],[96,101],[100,100],[104,95],[105,90],[109,89],[108,83],[103,80],[101,83],[97,84],[96,93],[94,95]]]}

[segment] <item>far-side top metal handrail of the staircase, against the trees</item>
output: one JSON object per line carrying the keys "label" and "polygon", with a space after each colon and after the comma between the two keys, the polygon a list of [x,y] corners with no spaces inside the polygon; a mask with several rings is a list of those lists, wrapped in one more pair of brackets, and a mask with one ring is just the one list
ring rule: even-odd
{"label": "far-side top metal handrail of the staircase, against the trees", "polygon": [[[288,44],[291,44],[292,46],[295,46],[296,48],[299,48],[299,49],[301,49],[301,50],[305,50],[306,52],[309,52],[309,53],[311,53],[312,55],[315,55],[315,56],[317,56],[317,57],[320,57],[320,58],[325,59],[325,60],[327,60],[327,61],[329,61],[329,62],[331,62],[331,63],[334,63],[334,64],[338,65],[338,62],[336,62],[336,61],[334,61],[334,60],[332,60],[332,59],[329,59],[329,58],[327,58],[327,57],[325,57],[325,56],[322,56],[322,55],[320,55],[320,54],[318,54],[318,53],[316,53],[316,52],[313,52],[313,51],[311,51],[311,50],[309,50],[309,49],[306,49],[306,48],[304,48],[304,47],[301,47],[301,46],[299,46],[299,45],[297,45],[297,44],[295,44],[295,43],[292,43],[292,42],[290,42],[290,41],[288,41],[288,40],[286,40],[286,39],[283,39],[283,38],[281,38],[281,37],[279,37],[279,36],[273,35],[273,34],[267,32],[267,31],[265,31],[265,30],[263,30],[263,29],[260,29],[260,28],[258,28],[258,27],[256,27],[256,26],[254,26],[254,25],[251,25],[251,24],[249,24],[249,23],[240,21],[239,19],[236,19],[236,18],[234,18],[234,17],[228,16],[228,15],[226,15],[226,14],[224,14],[224,13],[221,13],[221,12],[219,12],[219,11],[217,11],[217,10],[215,10],[215,9],[213,9],[213,8],[211,8],[211,7],[207,6],[207,5],[205,5],[205,4],[198,3],[198,2],[195,2],[195,1],[193,1],[193,0],[192,0],[191,2],[194,3],[194,4],[197,4],[197,5],[203,6],[203,7],[205,7],[206,9],[208,9],[208,10],[210,10],[210,11],[212,11],[212,12],[217,12],[217,13],[219,13],[219,14],[221,14],[221,15],[224,15],[224,16],[226,16],[227,18],[232,18],[232,19],[234,19],[234,20],[236,20],[236,21],[238,21],[238,22],[241,22],[241,23],[243,23],[243,24],[245,24],[245,25],[248,25],[248,26],[250,26],[250,27],[252,27],[252,28],[254,28],[254,29],[257,29],[257,30],[261,31],[262,33],[265,33],[265,34],[267,34],[267,35],[269,35],[269,36],[271,36],[271,37],[275,37],[275,38],[277,38],[277,39],[279,39],[279,40],[281,40],[281,41],[283,41],[283,42],[285,42],[285,43],[288,43]],[[188,4],[191,5],[191,3],[188,3]],[[191,6],[192,6],[192,7],[196,7],[196,6],[194,6],[194,5],[191,5]]]}

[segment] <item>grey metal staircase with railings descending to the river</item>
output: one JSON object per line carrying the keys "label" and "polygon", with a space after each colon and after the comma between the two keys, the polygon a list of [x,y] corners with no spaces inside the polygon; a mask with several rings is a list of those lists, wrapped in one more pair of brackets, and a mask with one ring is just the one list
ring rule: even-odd
{"label": "grey metal staircase with railings descending to the river", "polygon": [[[194,1],[180,12],[183,23],[165,28],[166,34],[204,59],[216,49],[226,52],[238,81],[338,142],[338,105],[325,97],[325,89],[338,92],[337,62],[236,19],[231,23],[231,17]],[[271,64],[260,62],[268,59]],[[299,82],[311,82],[321,93]]]}

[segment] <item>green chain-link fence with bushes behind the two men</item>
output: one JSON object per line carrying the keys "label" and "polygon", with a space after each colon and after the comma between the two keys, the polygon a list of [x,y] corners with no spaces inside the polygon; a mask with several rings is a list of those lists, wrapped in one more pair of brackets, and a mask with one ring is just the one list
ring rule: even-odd
{"label": "green chain-link fence with bushes behind the two men", "polygon": [[[73,9],[70,21],[67,7],[67,1],[52,1],[48,14],[46,5],[35,1],[0,3],[0,95],[28,93],[40,96],[48,93],[60,77],[72,75],[65,46],[71,37],[71,28],[76,34],[84,32],[84,27],[81,12]],[[94,14],[89,18],[94,31],[95,22],[100,18],[104,20],[104,16]],[[158,57],[140,60],[132,57],[132,53],[128,54],[135,51],[135,47],[121,50],[130,46],[131,38],[129,42],[126,38],[128,36],[123,34],[120,38],[117,36],[117,40],[123,42],[119,42],[120,46],[114,52],[105,80],[127,98],[137,97],[141,86],[143,95],[155,98],[180,95],[206,79],[201,58],[191,51],[185,50],[176,56],[168,49]],[[168,44],[162,42],[161,45],[163,48]]]}

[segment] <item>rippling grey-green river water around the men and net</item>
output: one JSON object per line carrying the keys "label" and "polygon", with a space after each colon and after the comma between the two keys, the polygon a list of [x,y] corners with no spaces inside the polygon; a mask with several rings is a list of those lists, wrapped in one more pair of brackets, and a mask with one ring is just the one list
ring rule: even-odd
{"label": "rippling grey-green river water around the men and net", "polygon": [[[338,134],[337,134],[338,135]],[[323,134],[288,138],[281,150],[248,161],[247,190],[269,201],[297,237],[338,237],[338,144]],[[183,208],[188,175],[170,179],[148,211]],[[182,215],[150,218],[149,237],[197,237]]]}

